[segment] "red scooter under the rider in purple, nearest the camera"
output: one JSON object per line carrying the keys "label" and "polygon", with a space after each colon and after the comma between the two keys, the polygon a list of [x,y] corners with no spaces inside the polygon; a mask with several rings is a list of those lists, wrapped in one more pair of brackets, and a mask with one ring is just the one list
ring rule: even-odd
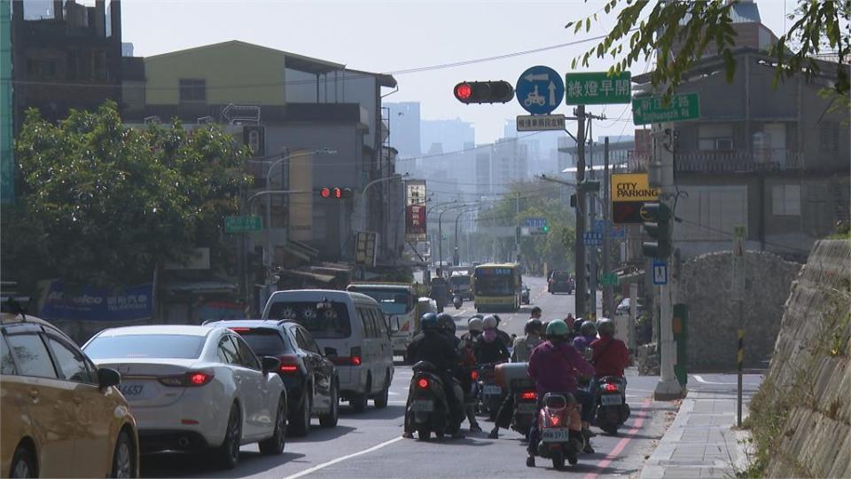
{"label": "red scooter under the rider in purple, nearest the camera", "polygon": [[577,456],[584,446],[580,407],[571,394],[547,393],[543,397],[537,418],[541,431],[537,453],[551,459],[556,469],[565,467],[565,459],[571,466],[579,461]]}

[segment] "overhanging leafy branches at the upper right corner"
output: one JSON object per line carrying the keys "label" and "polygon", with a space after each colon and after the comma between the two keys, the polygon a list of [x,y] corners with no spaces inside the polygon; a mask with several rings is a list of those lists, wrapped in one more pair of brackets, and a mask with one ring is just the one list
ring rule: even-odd
{"label": "overhanging leafy branches at the upper right corner", "polygon": [[[607,0],[605,13],[613,12],[623,3],[626,6],[618,13],[612,31],[595,47],[574,59],[572,68],[578,64],[589,67],[589,58],[592,56],[600,59],[611,56],[615,64],[609,69],[610,73],[620,73],[639,57],[650,59],[654,52],[658,52],[652,84],[667,85],[665,96],[669,98],[683,82],[683,74],[700,59],[709,43],[714,43],[716,51],[724,59],[727,81],[732,81],[736,61],[731,48],[736,42],[736,32],[732,27],[730,10],[735,2],[672,0],[651,4],[647,0],[637,0],[635,3],[633,0]],[[639,20],[648,6],[652,6],[649,14]],[[770,55],[777,59],[775,82],[801,73],[815,75],[820,67],[814,57],[822,51],[831,51],[839,55],[837,81],[833,90],[847,98],[847,65],[843,63],[848,59],[851,48],[847,35],[851,0],[799,0],[796,14],[790,15],[791,20],[796,18],[792,27],[770,51]],[[597,13],[572,21],[566,27],[573,27],[574,33],[583,26],[589,31],[592,19],[597,20]],[[680,43],[681,49],[674,54],[675,43]],[[797,50],[792,51],[792,46]]]}

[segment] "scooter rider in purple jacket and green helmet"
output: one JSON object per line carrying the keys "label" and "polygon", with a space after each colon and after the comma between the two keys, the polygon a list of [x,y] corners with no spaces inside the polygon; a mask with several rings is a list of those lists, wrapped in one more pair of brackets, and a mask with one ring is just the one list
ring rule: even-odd
{"label": "scooter rider in purple jacket and green helmet", "polygon": [[[582,404],[582,429],[588,430],[589,423],[594,417],[594,397],[588,391],[577,389],[576,376],[578,372],[587,376],[594,374],[594,366],[590,365],[569,342],[566,341],[569,329],[564,321],[557,319],[547,325],[547,341],[541,343],[529,356],[529,377],[535,381],[538,394],[538,407],[547,393],[570,393]],[[535,414],[537,417],[537,413]],[[535,467],[538,441],[541,431],[538,421],[532,422],[529,429],[529,446],[526,465]],[[587,437],[587,436],[586,436]],[[586,442],[585,452],[594,452]]]}

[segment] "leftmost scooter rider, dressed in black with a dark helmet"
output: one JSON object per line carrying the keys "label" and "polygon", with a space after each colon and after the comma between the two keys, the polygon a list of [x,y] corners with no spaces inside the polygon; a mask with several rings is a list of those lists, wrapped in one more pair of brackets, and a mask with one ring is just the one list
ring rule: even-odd
{"label": "leftmost scooter rider, dressed in black with a dark helmet", "polygon": [[[443,393],[446,396],[446,401],[449,405],[449,428],[447,432],[453,438],[464,437],[458,430],[461,425],[460,419],[464,416],[464,408],[458,402],[453,390],[452,377],[453,372],[458,365],[458,352],[455,343],[450,341],[441,331],[440,323],[437,315],[429,312],[423,315],[420,319],[420,327],[423,331],[414,337],[408,346],[408,356],[412,364],[417,364],[419,361],[428,361],[434,365],[435,374],[441,378],[443,384]],[[406,406],[407,410],[407,406]],[[413,437],[413,431],[407,421],[405,422],[404,437]]]}

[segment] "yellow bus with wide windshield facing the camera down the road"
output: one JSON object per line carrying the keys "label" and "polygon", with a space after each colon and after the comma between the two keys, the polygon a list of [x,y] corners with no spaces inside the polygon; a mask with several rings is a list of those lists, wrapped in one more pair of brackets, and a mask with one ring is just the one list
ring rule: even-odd
{"label": "yellow bus with wide windshield facing the camera down the road", "polygon": [[486,263],[472,274],[472,294],[476,311],[516,311],[520,309],[523,280],[516,263]]}

